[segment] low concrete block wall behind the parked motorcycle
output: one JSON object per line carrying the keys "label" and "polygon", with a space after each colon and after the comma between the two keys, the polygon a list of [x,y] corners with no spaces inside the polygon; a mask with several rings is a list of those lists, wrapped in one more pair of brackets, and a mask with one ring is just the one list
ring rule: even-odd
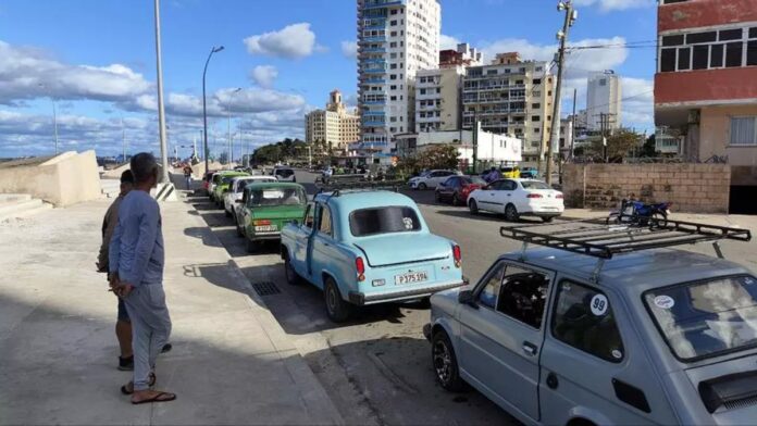
{"label": "low concrete block wall behind the parked motorcycle", "polygon": [[672,202],[673,212],[728,213],[727,164],[566,164],[566,205],[617,209],[623,198]]}

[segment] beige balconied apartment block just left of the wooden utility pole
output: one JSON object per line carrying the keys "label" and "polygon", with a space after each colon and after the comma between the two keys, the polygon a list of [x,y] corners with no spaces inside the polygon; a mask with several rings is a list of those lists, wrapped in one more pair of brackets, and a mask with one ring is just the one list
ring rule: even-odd
{"label": "beige balconied apartment block just left of the wooden utility pole", "polygon": [[517,52],[470,66],[462,79],[462,127],[477,120],[483,130],[521,139],[523,161],[536,162],[549,140],[554,86],[547,62],[524,61]]}

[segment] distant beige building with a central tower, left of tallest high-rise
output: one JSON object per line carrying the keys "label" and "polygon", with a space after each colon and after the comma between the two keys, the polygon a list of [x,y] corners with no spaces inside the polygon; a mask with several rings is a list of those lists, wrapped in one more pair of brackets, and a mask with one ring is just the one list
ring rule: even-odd
{"label": "distant beige building with a central tower, left of tallest high-rise", "polygon": [[308,143],[324,142],[345,150],[347,143],[357,140],[360,140],[360,116],[347,112],[339,90],[330,93],[325,110],[305,115],[305,141]]}

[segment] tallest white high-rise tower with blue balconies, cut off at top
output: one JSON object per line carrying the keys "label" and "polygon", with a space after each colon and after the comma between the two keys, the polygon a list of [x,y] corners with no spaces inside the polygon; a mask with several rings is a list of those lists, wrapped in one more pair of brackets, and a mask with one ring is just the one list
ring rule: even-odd
{"label": "tallest white high-rise tower with blue balconies, cut off at top", "polygon": [[438,0],[358,0],[358,103],[364,147],[390,152],[415,128],[415,74],[437,67]]}

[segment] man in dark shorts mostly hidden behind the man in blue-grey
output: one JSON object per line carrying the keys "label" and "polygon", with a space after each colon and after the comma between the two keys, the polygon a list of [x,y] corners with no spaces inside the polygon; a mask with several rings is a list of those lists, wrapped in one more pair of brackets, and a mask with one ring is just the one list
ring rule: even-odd
{"label": "man in dark shorts mostly hidden behind the man in blue-grey", "polygon": [[[121,201],[123,201],[124,197],[126,197],[132,188],[134,188],[134,175],[132,174],[132,171],[125,171],[121,174],[121,192],[115,201],[113,201],[111,206],[108,208],[106,217],[102,220],[102,245],[100,246],[100,253],[97,256],[98,272],[108,272],[108,248],[110,246],[111,238],[113,237],[115,225],[119,223],[119,205],[121,205]],[[121,298],[119,298],[119,316],[115,322],[115,337],[119,339],[119,347],[121,347],[119,369],[134,369],[134,356],[132,354],[132,323],[128,320],[126,306]]]}

